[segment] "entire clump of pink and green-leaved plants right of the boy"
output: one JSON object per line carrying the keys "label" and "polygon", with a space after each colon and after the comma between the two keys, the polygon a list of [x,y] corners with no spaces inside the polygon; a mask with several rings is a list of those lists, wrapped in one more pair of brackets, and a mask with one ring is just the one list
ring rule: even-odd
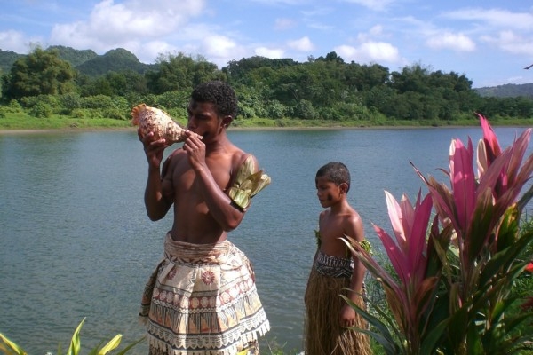
{"label": "entire clump of pink and green-leaved plants right of the boy", "polygon": [[[453,139],[449,149],[449,186],[424,177],[429,193],[414,206],[386,193],[396,242],[374,226],[394,267],[386,272],[357,243],[346,237],[370,273],[383,284],[394,318],[378,318],[356,308],[373,326],[370,333],[387,353],[502,354],[520,351],[533,339],[533,312],[508,312],[516,302],[513,283],[530,260],[519,257],[533,241],[521,233],[521,212],[533,186],[518,199],[533,175],[533,154],[523,162],[531,129],[512,146],[499,146],[481,115],[483,138],[477,146]],[[430,211],[436,216],[431,225]],[[529,300],[531,301],[531,300]]]}

